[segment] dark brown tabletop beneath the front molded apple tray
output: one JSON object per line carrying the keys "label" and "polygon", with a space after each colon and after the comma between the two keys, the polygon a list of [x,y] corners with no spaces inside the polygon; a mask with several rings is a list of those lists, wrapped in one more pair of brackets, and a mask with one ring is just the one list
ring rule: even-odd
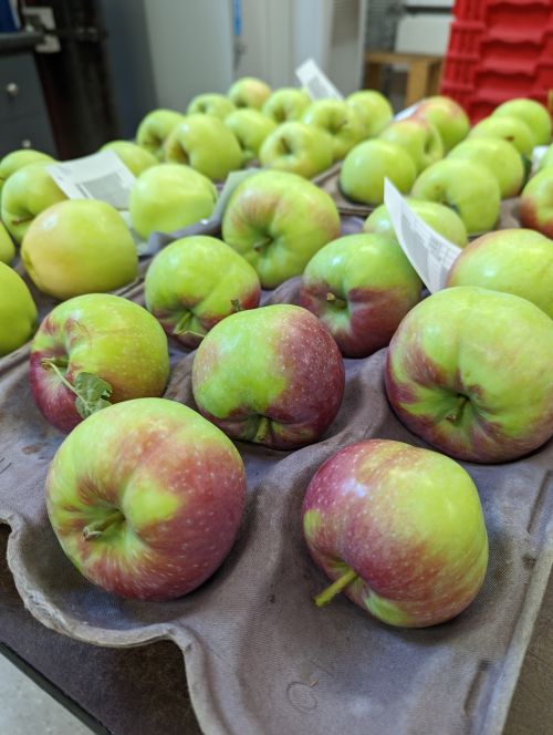
{"label": "dark brown tabletop beneath the front molded apple tray", "polygon": [[[24,609],[6,565],[8,532],[0,525],[0,654],[97,735],[201,735],[179,649],[169,641],[103,649],[43,628]],[[553,579],[503,735],[551,735],[552,690]]]}

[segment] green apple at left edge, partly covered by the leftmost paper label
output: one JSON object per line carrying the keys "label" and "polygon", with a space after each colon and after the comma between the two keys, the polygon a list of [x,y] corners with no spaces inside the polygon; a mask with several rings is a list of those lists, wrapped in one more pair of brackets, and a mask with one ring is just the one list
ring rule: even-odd
{"label": "green apple at left edge, partly covered by the leftmost paper label", "polygon": [[18,244],[41,211],[67,198],[48,173],[48,165],[34,163],[19,168],[2,188],[2,221]]}

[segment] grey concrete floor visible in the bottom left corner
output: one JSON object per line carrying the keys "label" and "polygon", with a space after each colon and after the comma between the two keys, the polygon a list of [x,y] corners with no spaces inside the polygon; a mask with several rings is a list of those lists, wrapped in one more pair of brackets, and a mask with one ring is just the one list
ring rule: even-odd
{"label": "grey concrete floor visible in the bottom left corner", "polygon": [[91,731],[0,655],[0,733],[91,735]]}

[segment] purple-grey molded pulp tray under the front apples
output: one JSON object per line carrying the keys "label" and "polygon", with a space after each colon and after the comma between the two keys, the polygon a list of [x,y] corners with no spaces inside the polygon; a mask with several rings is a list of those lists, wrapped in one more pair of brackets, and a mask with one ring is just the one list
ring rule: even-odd
{"label": "purple-grey molded pulp tray under the front apples", "polygon": [[[361,220],[344,220],[345,231]],[[124,292],[140,301],[138,283]],[[265,302],[296,299],[298,279]],[[482,499],[490,563],[476,601],[429,629],[386,627],[345,597],[312,602],[327,579],[302,538],[301,504],[316,468],[368,437],[425,446],[393,415],[383,350],[346,360],[342,408],[323,441],[290,453],[238,443],[248,503],[238,540],[216,574],[165,603],[88,583],[49,525],[43,488],[63,436],[28,385],[29,348],[0,361],[0,522],[25,607],[44,625],[98,645],[173,640],[182,651],[201,729],[217,735],[501,732],[553,558],[553,442],[519,462],[463,466]],[[194,354],[171,348],[167,397],[194,406]]]}

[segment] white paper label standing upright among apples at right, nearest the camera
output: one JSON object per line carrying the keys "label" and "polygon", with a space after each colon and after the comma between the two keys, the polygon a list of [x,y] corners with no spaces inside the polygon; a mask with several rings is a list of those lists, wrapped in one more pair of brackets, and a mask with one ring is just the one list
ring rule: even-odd
{"label": "white paper label standing upright among apples at right, nearest the camera", "polygon": [[384,182],[384,204],[399,245],[411,266],[430,293],[439,291],[446,286],[447,275],[461,248],[446,240],[420,219],[387,178]]}

